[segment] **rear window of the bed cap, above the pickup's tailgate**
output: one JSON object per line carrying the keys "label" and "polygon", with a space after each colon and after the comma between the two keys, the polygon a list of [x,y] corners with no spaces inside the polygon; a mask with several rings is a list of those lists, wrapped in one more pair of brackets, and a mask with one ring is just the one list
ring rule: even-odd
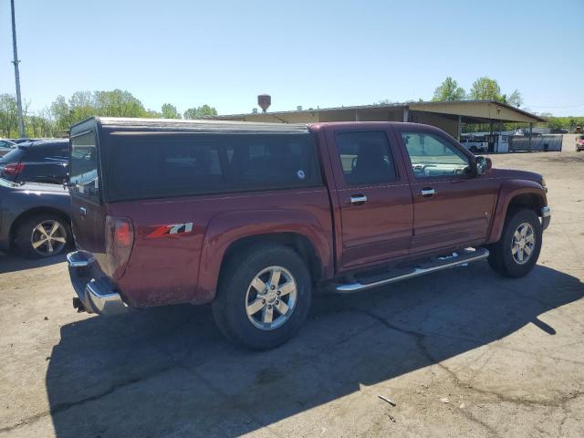
{"label": "rear window of the bed cap, above the pickup's tailgate", "polygon": [[98,150],[93,132],[71,139],[69,173],[71,193],[99,199]]}

